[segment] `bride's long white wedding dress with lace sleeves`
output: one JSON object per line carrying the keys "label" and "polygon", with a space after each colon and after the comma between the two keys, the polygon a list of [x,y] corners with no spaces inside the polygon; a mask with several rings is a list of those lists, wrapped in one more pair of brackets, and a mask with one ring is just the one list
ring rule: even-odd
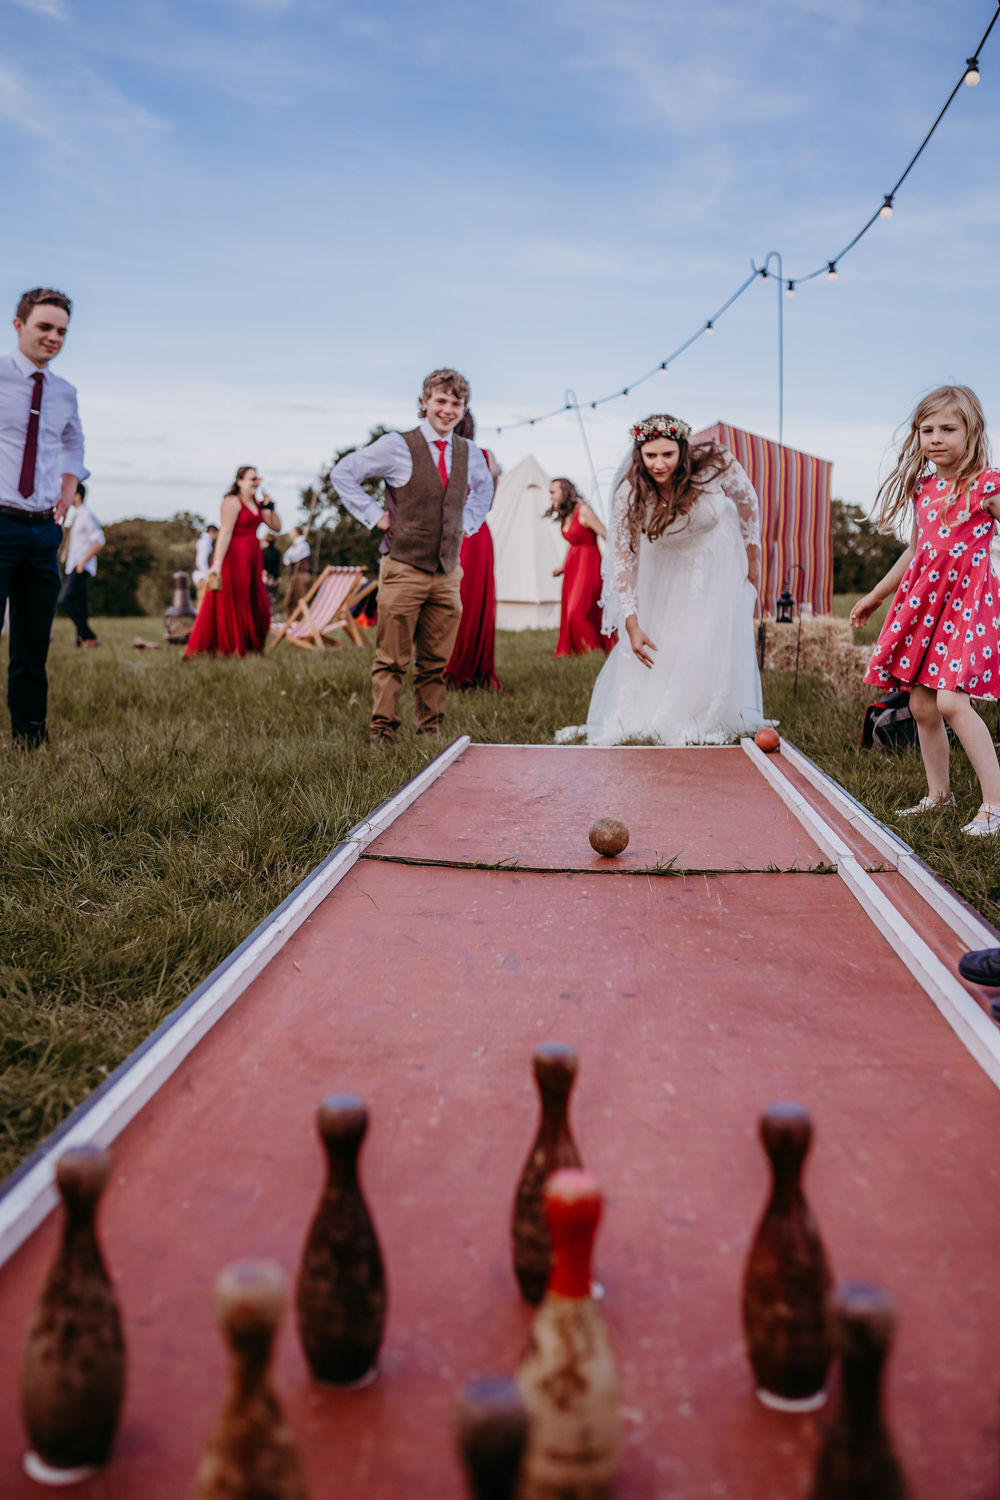
{"label": "bride's long white wedding dress with lace sleeves", "polygon": [[[732,454],[679,520],[633,552],[628,486],[612,501],[604,558],[603,628],[618,645],[594,684],[586,724],[556,738],[592,746],[630,740],[664,746],[727,744],[766,720],[754,652],[754,602],[747,548],[760,548],[760,507]],[[654,666],[633,654],[625,620],[658,646]]]}

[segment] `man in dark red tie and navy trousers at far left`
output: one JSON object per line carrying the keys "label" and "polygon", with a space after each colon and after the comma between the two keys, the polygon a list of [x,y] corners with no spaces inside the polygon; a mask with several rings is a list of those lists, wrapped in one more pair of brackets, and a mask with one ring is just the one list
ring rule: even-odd
{"label": "man in dark red tie and navy trousers at far left", "polygon": [[18,346],[0,356],[0,616],[9,602],[7,708],[21,750],[48,740],[45,660],[60,590],[61,520],[88,477],[76,390],[48,368],[70,312],[61,291],[25,291],[13,318]]}

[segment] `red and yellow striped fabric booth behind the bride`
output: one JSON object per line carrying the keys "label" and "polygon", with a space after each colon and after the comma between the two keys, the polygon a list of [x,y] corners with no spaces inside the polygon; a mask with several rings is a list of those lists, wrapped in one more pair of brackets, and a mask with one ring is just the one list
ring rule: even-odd
{"label": "red and yellow striped fabric booth behind the bride", "polygon": [[[763,576],[760,598],[768,615],[787,584],[796,604],[811,604],[816,615],[834,609],[834,554],[831,543],[831,474],[834,465],[798,448],[786,448],[754,432],[717,422],[697,432],[693,442],[712,438],[736,458],[760,495]],[[798,564],[798,567],[795,566]],[[802,572],[799,572],[799,568]]]}

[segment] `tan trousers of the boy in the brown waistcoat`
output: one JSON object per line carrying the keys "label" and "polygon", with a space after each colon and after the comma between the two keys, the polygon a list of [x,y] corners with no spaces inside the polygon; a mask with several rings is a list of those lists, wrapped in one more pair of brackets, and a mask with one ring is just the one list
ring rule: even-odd
{"label": "tan trousers of the boy in the brown waistcoat", "polygon": [[414,657],[417,730],[436,732],[444,720],[444,669],[462,618],[462,568],[424,573],[384,556],[378,570],[378,634],[372,666],[372,735],[399,728],[399,694]]}

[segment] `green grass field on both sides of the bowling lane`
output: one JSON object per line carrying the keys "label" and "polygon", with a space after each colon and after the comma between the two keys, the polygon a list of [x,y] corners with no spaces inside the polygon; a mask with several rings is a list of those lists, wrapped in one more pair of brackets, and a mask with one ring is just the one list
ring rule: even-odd
{"label": "green grass field on both sides of the bowling lane", "polygon": [[[282,646],[181,662],[177,648],[132,648],[135,633],[157,639],[153,620],[97,628],[100,648],[81,652],[69,622],[55,622],[52,742],[36,754],[7,748],[0,778],[0,1173],[441,748],[409,734],[369,746],[369,652]],[[498,670],[511,693],[450,694],[445,742],[549,744],[582,722],[601,663],[553,662],[553,645],[552,632],[502,634]],[[891,820],[922,795],[921,760],[859,750],[864,704],[816,676],[801,676],[798,693],[790,676],[765,680],[783,732]],[[954,786],[972,816],[978,794],[961,752]],[[933,818],[906,837],[1000,921],[1000,840],[972,843],[961,820]]]}

